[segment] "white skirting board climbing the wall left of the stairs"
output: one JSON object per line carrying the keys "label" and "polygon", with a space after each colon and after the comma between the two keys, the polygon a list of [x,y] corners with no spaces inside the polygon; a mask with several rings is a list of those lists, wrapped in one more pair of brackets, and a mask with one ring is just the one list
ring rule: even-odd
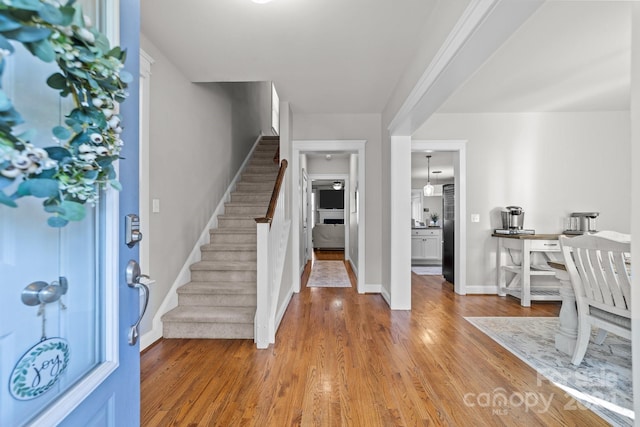
{"label": "white skirting board climbing the wall left of the stairs", "polygon": [[158,311],[153,316],[151,330],[148,332],[145,332],[140,336],[140,351],[144,350],[149,345],[153,344],[154,342],[162,338],[161,318],[165,313],[173,310],[178,306],[178,294],[177,294],[178,288],[191,281],[191,270],[190,270],[191,264],[194,264],[200,261],[201,259],[200,246],[206,245],[209,243],[209,230],[212,228],[216,228],[218,226],[218,215],[224,214],[224,204],[229,200],[231,200],[231,192],[235,190],[236,184],[240,180],[240,176],[242,175],[242,171],[244,171],[245,167],[249,163],[249,160],[251,160],[251,156],[253,155],[253,152],[255,151],[256,146],[260,142],[260,139],[262,138],[262,136],[263,136],[262,133],[258,135],[258,138],[256,139],[256,142],[253,144],[251,151],[249,152],[249,154],[247,154],[247,157],[244,159],[244,162],[242,162],[242,165],[238,169],[238,172],[233,177],[233,180],[229,184],[229,187],[227,187],[227,191],[222,196],[222,199],[220,199],[220,202],[218,203],[218,206],[216,207],[215,211],[213,211],[211,218],[209,218],[209,222],[202,230],[202,233],[200,234],[198,241],[193,246],[193,249],[191,249],[191,253],[185,260],[182,268],[180,269],[180,273],[178,273],[178,277],[176,277],[176,280],[173,282],[173,285],[171,285],[169,292],[167,292],[167,295],[165,295],[165,298],[162,301],[162,304],[160,304]]}

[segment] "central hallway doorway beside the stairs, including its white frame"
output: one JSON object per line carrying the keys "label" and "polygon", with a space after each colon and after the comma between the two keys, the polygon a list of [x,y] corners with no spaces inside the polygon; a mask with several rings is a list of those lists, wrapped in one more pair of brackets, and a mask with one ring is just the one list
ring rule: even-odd
{"label": "central hallway doorway beside the stairs, including its white frame", "polygon": [[[304,267],[313,258],[318,239],[326,249],[342,246],[344,258],[357,277],[358,292],[365,292],[365,142],[293,141],[292,180],[298,190],[293,191],[292,204],[299,206],[298,214],[292,215],[293,247],[299,248],[292,271],[296,292],[300,291]],[[338,183],[340,188],[334,188]],[[316,236],[314,243],[313,229],[318,224],[329,234]]]}

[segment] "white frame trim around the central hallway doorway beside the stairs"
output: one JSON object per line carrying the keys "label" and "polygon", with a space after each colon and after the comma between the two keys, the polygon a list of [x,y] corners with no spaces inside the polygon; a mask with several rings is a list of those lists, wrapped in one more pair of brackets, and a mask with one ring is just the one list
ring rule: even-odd
{"label": "white frame trim around the central hallway doorway beside the stairs", "polygon": [[[357,280],[358,280],[358,293],[366,292],[379,292],[379,290],[367,289],[365,282],[365,194],[366,194],[366,181],[365,181],[365,146],[366,140],[311,140],[311,141],[292,141],[292,153],[291,153],[291,179],[294,188],[300,188],[302,185],[301,176],[302,169],[300,165],[300,155],[309,152],[349,152],[358,154],[358,266],[357,266]],[[301,239],[301,227],[302,218],[298,212],[298,206],[301,206],[300,191],[292,191],[293,197],[291,201],[291,230],[292,230],[292,243],[293,243],[293,265],[291,269],[293,291],[300,292],[301,288],[301,276],[300,276],[300,239]],[[346,224],[345,224],[346,226]],[[346,249],[346,248],[345,248]]]}

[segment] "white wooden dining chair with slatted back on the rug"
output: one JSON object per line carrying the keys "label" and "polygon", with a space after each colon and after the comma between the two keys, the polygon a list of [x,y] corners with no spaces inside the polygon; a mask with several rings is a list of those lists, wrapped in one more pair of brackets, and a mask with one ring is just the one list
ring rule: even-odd
{"label": "white wooden dining chair with slatted back on the rug", "polygon": [[591,328],[599,328],[596,344],[607,331],[631,339],[631,279],[627,263],[631,236],[600,232],[560,236],[560,247],[578,308],[578,338],[571,363],[580,365]]}

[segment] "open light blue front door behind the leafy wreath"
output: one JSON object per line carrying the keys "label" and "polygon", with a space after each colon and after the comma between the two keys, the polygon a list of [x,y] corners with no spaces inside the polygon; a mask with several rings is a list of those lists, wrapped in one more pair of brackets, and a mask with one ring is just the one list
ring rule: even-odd
{"label": "open light blue front door behind the leafy wreath", "polygon": [[[126,69],[137,77],[138,0],[79,3],[112,44],[127,49]],[[44,82],[52,66],[24,50],[14,56],[3,85],[30,127],[47,134],[65,104],[32,82]],[[124,232],[125,216],[138,211],[138,79],[128,91],[120,105],[120,192],[106,191],[84,220],[59,229],[47,225],[41,200],[0,205],[2,426],[139,425],[139,346],[128,336],[140,299],[125,280],[138,249],[125,244]],[[64,292],[50,298],[45,285]]]}

